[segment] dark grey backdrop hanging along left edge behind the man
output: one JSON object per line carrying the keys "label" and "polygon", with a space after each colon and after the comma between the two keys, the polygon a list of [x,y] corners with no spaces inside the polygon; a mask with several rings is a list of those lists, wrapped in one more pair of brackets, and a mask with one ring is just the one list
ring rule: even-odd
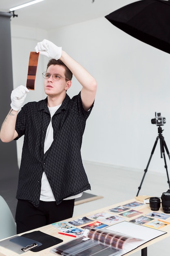
{"label": "dark grey backdrop hanging along left edge behind the man", "polygon": [[[11,108],[13,90],[11,16],[11,13],[0,12],[0,126]],[[7,202],[15,201],[18,173],[16,141],[0,141],[0,195]]]}

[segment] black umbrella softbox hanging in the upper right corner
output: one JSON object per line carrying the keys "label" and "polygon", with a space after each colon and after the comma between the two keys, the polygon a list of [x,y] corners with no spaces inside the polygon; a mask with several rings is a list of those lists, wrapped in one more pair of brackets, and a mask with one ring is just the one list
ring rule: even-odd
{"label": "black umbrella softbox hanging in the upper right corner", "polygon": [[105,18],[127,34],[170,53],[170,1],[141,0]]}

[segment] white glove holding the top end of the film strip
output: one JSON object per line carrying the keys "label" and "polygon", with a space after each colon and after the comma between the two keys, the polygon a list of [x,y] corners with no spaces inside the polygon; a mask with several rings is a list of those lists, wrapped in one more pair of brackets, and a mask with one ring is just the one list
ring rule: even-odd
{"label": "white glove holding the top end of the film strip", "polygon": [[44,39],[35,46],[35,52],[40,52],[42,55],[58,60],[62,55],[62,47],[58,47],[49,40]]}

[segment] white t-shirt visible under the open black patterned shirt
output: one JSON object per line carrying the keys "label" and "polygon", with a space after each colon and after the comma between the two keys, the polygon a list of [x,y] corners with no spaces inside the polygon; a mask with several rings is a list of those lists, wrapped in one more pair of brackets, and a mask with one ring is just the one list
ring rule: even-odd
{"label": "white t-shirt visible under the open black patterned shirt", "polygon": [[[60,108],[62,104],[55,106],[55,107],[48,107],[51,115],[51,120],[55,112],[57,111],[58,108]],[[49,126],[46,130],[46,137],[44,141],[44,154],[46,151],[50,148],[52,142],[53,142],[53,126],[52,126],[52,121],[50,120]],[[71,197],[65,198],[64,200],[70,200],[70,199],[75,199],[81,197],[83,194],[79,193],[77,195],[73,195]],[[42,179],[41,179],[41,193],[40,193],[40,200],[41,201],[46,201],[46,202],[51,202],[55,201],[53,191],[51,189],[51,186],[49,184],[49,181],[46,177],[45,172],[42,173]]]}

